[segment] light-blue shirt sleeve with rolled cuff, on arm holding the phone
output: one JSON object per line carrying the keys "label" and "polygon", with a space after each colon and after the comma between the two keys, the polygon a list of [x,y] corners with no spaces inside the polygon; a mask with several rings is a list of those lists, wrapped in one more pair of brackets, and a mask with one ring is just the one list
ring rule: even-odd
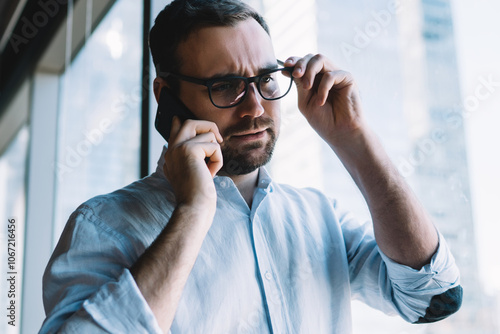
{"label": "light-blue shirt sleeve with rolled cuff, on arm holding the phone", "polygon": [[130,271],[132,247],[89,208],[69,219],[47,265],[40,333],[162,333]]}

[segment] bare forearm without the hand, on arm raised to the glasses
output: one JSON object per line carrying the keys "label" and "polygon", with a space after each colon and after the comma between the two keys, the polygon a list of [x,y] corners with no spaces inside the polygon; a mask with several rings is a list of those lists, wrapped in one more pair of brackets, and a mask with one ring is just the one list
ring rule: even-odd
{"label": "bare forearm without the hand, on arm raised to the glasses", "polygon": [[429,263],[438,246],[436,229],[375,135],[363,132],[351,147],[334,150],[368,203],[382,252],[415,269]]}

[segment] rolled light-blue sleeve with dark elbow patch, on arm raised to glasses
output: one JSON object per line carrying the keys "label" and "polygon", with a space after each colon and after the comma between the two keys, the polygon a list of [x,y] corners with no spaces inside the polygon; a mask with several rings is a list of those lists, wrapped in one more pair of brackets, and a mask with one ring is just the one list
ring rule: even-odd
{"label": "rolled light-blue sleeve with dark elbow patch, on arm raised to glasses", "polygon": [[420,270],[396,263],[377,246],[371,223],[340,215],[354,299],[411,323],[433,322],[461,305],[460,274],[441,233],[430,263]]}

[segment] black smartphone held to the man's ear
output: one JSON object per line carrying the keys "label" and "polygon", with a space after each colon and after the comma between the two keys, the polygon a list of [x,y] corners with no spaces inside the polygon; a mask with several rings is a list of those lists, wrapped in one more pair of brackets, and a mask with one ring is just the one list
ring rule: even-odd
{"label": "black smartphone held to the man's ear", "polygon": [[155,128],[167,142],[168,138],[170,138],[170,129],[172,128],[174,116],[179,117],[182,122],[186,119],[196,119],[193,113],[170,89],[163,87],[158,101],[158,110],[156,111]]}

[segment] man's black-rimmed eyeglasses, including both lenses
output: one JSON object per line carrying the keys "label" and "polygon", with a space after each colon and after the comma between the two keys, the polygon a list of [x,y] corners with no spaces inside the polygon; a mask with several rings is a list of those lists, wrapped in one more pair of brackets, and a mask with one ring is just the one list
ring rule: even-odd
{"label": "man's black-rimmed eyeglasses, including both lenses", "polygon": [[[283,63],[278,61],[281,65]],[[174,77],[180,80],[203,85],[208,88],[210,101],[217,108],[232,108],[243,102],[248,86],[254,82],[264,100],[281,99],[292,87],[293,67],[282,67],[266,71],[254,77],[227,76],[213,79],[198,79],[186,75],[166,73],[163,78]]]}

